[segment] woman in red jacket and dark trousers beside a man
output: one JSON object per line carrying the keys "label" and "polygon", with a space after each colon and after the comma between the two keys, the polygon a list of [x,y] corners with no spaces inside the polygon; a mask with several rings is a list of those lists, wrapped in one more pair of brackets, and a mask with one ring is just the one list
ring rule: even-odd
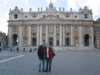
{"label": "woman in red jacket and dark trousers beside a man", "polygon": [[46,70],[45,72],[50,72],[51,71],[51,64],[52,64],[52,59],[55,56],[55,53],[52,49],[52,47],[49,46],[49,44],[47,43],[47,48],[46,48]]}

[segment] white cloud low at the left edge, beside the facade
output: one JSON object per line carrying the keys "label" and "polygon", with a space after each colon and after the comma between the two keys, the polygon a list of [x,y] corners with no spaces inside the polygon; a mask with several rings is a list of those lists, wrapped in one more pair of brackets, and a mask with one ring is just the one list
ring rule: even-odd
{"label": "white cloud low at the left edge, beside the facade", "polygon": [[8,27],[7,27],[7,25],[8,25],[8,23],[7,23],[8,18],[9,18],[8,13],[6,13],[6,14],[4,14],[4,15],[2,15],[0,17],[0,31],[5,32],[5,33],[8,32]]}

